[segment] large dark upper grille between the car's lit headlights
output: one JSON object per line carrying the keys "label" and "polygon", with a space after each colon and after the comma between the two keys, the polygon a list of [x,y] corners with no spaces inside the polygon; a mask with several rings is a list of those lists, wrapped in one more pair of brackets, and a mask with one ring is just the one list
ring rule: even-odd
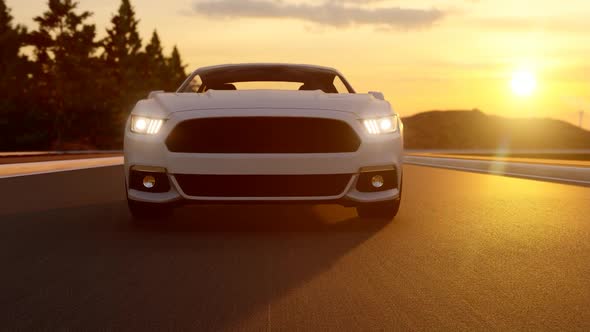
{"label": "large dark upper grille between the car's lit headlights", "polygon": [[166,146],[185,153],[338,153],[356,151],[360,139],[340,120],[221,117],[179,123]]}

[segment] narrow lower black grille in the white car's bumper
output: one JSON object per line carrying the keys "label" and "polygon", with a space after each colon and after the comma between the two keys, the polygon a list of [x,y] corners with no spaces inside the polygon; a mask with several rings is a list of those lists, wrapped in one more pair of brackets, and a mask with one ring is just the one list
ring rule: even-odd
{"label": "narrow lower black grille in the white car's bumper", "polygon": [[175,174],[182,191],[200,197],[337,196],[352,174],[327,175],[194,175]]}

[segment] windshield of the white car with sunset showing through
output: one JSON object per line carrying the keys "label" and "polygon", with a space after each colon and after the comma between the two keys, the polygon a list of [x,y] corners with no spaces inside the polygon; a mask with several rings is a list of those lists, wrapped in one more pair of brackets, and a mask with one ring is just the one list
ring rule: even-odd
{"label": "windshield of the white car with sunset showing through", "polygon": [[179,92],[208,90],[320,90],[325,93],[354,93],[336,71],[305,66],[247,65],[198,70]]}

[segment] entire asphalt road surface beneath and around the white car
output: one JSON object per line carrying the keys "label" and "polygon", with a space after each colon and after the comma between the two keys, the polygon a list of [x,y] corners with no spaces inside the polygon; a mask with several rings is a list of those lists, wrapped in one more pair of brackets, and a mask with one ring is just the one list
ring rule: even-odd
{"label": "entire asphalt road surface beneath and around the white car", "polygon": [[185,207],[122,167],[0,180],[0,330],[590,330],[590,188],[406,166],[398,217]]}

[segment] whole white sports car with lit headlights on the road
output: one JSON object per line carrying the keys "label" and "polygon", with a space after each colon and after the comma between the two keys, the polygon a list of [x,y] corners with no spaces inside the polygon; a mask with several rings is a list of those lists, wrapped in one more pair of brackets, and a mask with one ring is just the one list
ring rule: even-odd
{"label": "whole white sports car with lit headlights on the road", "polygon": [[124,145],[136,220],[176,203],[337,203],[388,220],[400,206],[400,117],[331,68],[198,69],[176,93],[137,103]]}

